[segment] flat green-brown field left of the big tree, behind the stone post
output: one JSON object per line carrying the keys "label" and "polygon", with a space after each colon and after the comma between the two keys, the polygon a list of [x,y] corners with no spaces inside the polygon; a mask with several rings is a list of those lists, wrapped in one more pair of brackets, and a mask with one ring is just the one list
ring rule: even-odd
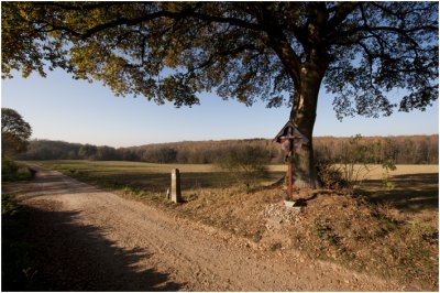
{"label": "flat green-brown field left of the big tree, behind the stone post", "polygon": [[[67,175],[97,180],[107,185],[130,185],[155,193],[169,188],[170,172],[180,171],[182,188],[229,187],[238,184],[237,177],[209,164],[152,164],[120,161],[38,161],[28,162],[61,171]],[[283,171],[271,171],[256,185],[270,184],[283,176]]]}

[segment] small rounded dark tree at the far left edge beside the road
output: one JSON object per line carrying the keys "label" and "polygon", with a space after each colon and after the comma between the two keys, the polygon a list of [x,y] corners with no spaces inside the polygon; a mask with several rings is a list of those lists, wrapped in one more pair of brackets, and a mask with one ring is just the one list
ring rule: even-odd
{"label": "small rounded dark tree at the far left edge beside the road", "polygon": [[13,109],[1,108],[2,156],[24,152],[32,134],[31,126]]}

